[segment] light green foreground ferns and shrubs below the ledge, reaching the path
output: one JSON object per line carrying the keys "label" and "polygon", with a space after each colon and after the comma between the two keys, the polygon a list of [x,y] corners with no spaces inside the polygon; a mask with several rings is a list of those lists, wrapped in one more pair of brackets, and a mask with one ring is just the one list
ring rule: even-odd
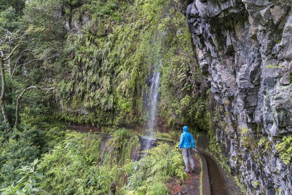
{"label": "light green foreground ferns and shrubs below the ledge, reaching the path", "polygon": [[51,195],[105,195],[112,181],[117,185],[117,194],[166,195],[165,182],[172,176],[183,181],[186,173],[177,146],[160,143],[147,152],[148,156],[134,162],[130,160],[133,151],[129,148],[139,147],[139,142],[135,136],[126,138],[126,133],[124,129],[117,130],[102,154],[102,137],[67,133],[52,152],[18,169],[15,173],[20,173],[21,179],[3,188],[2,195],[17,191],[23,195],[33,191]]}

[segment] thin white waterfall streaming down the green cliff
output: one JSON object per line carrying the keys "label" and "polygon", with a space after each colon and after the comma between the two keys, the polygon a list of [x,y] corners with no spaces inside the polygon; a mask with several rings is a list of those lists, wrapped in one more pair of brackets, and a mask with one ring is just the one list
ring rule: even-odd
{"label": "thin white waterfall streaming down the green cliff", "polygon": [[152,77],[150,79],[150,91],[149,91],[149,127],[151,130],[151,136],[153,136],[155,118],[156,118],[156,104],[158,98],[158,87],[159,87],[159,72],[160,64],[155,68]]}

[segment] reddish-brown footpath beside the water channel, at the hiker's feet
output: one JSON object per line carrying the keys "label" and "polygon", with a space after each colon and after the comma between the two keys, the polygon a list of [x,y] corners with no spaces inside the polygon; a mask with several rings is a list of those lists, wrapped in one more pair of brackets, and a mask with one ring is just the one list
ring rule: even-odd
{"label": "reddish-brown footpath beside the water channel, at the hiker's feet", "polygon": [[200,161],[193,155],[195,163],[195,173],[189,173],[189,179],[186,178],[185,182],[181,185],[177,177],[173,178],[168,187],[171,195],[200,195]]}

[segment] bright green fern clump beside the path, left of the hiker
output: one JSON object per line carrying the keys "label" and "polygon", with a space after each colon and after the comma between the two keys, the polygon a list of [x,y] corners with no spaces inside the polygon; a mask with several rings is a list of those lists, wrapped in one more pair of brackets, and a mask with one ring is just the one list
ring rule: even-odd
{"label": "bright green fern clump beside the path, left of the hiker", "polygon": [[[187,177],[183,171],[184,162],[177,146],[171,147],[167,143],[159,143],[157,147],[141,153],[147,155],[137,162],[130,161],[123,167],[125,170],[129,170],[129,167],[137,169],[136,172],[127,172],[129,174],[127,188],[132,192],[151,194],[153,187],[158,183],[159,186],[163,186],[161,181],[166,182],[172,176],[177,176],[183,182]],[[155,192],[159,194],[159,190]]]}

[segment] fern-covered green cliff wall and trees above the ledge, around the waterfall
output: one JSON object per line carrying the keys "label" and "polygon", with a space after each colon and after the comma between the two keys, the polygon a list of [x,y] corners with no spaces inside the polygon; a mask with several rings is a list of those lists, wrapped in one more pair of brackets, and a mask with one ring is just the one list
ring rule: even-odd
{"label": "fern-covered green cliff wall and trees above the ledge, around the waterfall", "polygon": [[18,38],[1,45],[18,45],[9,62],[12,74],[5,76],[10,124],[15,97],[31,85],[55,88],[33,89],[20,99],[20,113],[29,105],[40,126],[56,120],[142,124],[147,78],[161,64],[158,114],[170,126],[203,128],[207,87],[192,50],[185,1],[30,0],[19,10],[21,3],[4,3],[0,14],[2,35],[8,29]]}

